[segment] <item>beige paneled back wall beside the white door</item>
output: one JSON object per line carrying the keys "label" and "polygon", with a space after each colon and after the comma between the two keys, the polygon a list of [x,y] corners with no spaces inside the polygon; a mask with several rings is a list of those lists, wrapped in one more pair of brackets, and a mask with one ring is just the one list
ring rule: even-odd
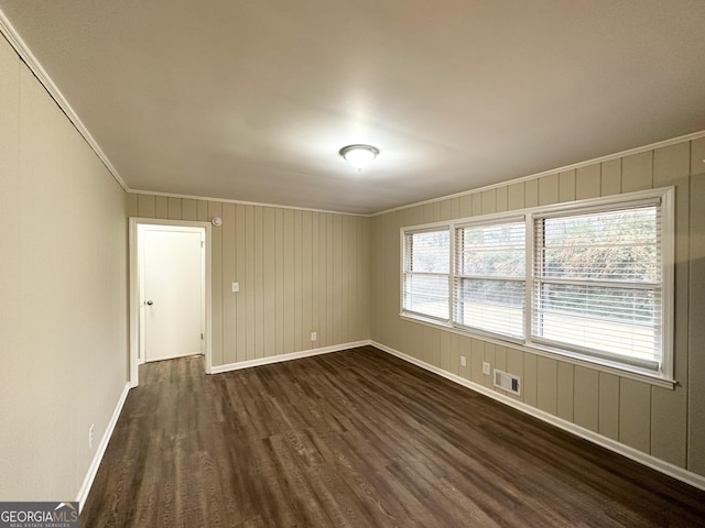
{"label": "beige paneled back wall beside the white door", "polygon": [[133,217],[223,219],[212,231],[214,366],[369,339],[370,219],[152,195],[128,202]]}

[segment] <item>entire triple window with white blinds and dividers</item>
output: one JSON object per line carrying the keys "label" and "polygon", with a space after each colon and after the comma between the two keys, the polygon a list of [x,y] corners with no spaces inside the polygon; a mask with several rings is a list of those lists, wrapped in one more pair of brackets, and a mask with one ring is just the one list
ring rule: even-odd
{"label": "entire triple window with white blinds and dividers", "polygon": [[657,189],[402,229],[402,316],[670,381],[671,202]]}

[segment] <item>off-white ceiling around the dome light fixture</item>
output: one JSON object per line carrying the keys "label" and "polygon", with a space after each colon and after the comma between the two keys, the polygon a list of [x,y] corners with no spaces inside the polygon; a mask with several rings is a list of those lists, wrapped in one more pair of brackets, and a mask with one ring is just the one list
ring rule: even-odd
{"label": "off-white ceiling around the dome light fixture", "polygon": [[370,213],[705,129],[703,0],[0,9],[135,190]]}

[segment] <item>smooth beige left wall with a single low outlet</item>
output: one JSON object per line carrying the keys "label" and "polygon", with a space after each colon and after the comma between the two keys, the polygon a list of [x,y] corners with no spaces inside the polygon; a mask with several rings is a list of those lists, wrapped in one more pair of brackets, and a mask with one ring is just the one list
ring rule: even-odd
{"label": "smooth beige left wall with a single low outlet", "polygon": [[124,389],[124,216],[0,36],[0,501],[76,499]]}

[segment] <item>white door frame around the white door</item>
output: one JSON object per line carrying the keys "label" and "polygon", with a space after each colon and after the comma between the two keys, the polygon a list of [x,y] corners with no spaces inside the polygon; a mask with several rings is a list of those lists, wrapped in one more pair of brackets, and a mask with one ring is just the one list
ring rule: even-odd
{"label": "white door frame around the white door", "polygon": [[202,228],[205,232],[205,328],[204,328],[204,371],[210,374],[212,362],[212,258],[210,258],[210,223],[188,220],[162,220],[154,218],[129,218],[129,258],[130,258],[130,290],[129,290],[129,317],[130,317],[130,387],[139,385],[139,351],[140,351],[140,261],[139,261],[139,234],[140,226],[165,226]]}

